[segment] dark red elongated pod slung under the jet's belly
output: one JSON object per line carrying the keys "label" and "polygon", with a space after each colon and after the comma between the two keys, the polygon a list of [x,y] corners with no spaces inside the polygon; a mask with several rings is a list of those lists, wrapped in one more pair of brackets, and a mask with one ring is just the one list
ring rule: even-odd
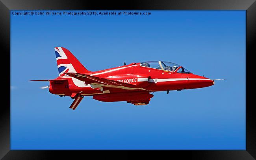
{"label": "dark red elongated pod slung under the jet's belly", "polygon": [[145,92],[130,92],[130,93],[108,93],[101,95],[93,95],[93,99],[102,102],[117,102],[117,101],[134,101],[134,100],[149,100],[154,95]]}

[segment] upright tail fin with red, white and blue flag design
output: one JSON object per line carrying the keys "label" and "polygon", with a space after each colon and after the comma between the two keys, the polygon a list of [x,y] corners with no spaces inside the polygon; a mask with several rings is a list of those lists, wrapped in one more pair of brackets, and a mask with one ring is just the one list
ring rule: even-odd
{"label": "upright tail fin with red, white and blue flag design", "polygon": [[59,76],[64,76],[65,73],[89,73],[72,53],[64,47],[55,47],[56,60],[58,65]]}

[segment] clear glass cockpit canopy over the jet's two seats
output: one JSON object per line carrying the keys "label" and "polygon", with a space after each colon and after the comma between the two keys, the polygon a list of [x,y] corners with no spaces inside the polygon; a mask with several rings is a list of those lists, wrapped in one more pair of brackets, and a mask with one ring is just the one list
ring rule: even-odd
{"label": "clear glass cockpit canopy over the jet's two seats", "polygon": [[150,67],[150,68],[156,68],[156,69],[161,69],[164,71],[176,71],[176,69],[178,69],[177,73],[191,73],[190,71],[188,71],[187,69],[185,69],[184,67],[181,67],[178,64],[174,64],[171,62],[164,62],[164,61],[149,61],[149,62],[141,62],[140,63],[141,66],[143,67]]}

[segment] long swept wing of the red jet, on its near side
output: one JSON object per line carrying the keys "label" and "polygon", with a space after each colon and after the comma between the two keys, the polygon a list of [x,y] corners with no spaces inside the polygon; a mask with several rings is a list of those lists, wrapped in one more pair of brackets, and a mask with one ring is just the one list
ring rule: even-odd
{"label": "long swept wing of the red jet, on its near side", "polygon": [[84,81],[85,84],[102,84],[102,85],[111,85],[111,86],[121,86],[121,87],[129,87],[129,88],[139,88],[137,85],[133,84],[127,84],[115,80],[109,80],[106,78],[100,78],[97,76],[90,76],[90,75],[85,75],[82,73],[65,73],[66,75],[72,76],[78,80]]}

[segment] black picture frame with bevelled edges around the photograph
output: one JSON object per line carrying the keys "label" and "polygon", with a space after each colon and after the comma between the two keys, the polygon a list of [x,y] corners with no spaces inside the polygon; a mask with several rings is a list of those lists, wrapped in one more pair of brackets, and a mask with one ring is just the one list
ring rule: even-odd
{"label": "black picture frame with bevelled edges around the photograph", "polygon": [[[191,158],[197,160],[255,160],[256,159],[256,118],[254,105],[252,103],[252,75],[253,69],[253,53],[256,53],[256,2],[254,0],[182,0],[182,1],[125,1],[111,3],[109,1],[82,1],[82,0],[1,0],[0,2],[0,38],[1,56],[2,60],[10,61],[10,10],[57,10],[57,9],[80,9],[80,10],[152,10],[152,9],[170,9],[170,10],[246,10],[246,150],[228,150],[228,151],[164,151],[161,153],[147,152],[144,156],[167,156],[167,158]],[[9,65],[10,66],[10,65]],[[4,67],[4,65],[2,65]],[[7,93],[10,95],[10,68],[4,67],[2,69],[2,87],[5,87]],[[239,73],[237,74],[239,76]],[[239,85],[239,84],[237,84]],[[6,92],[3,92],[2,102],[10,101],[6,98]],[[7,96],[8,97],[8,96]],[[10,105],[1,105],[0,111],[0,158],[8,159],[52,159],[53,157],[73,158],[74,156],[82,156],[83,158],[93,156],[93,158],[113,155],[113,152],[106,152],[104,154],[95,154],[95,151],[14,151],[10,150]],[[119,158],[128,158],[130,153],[127,151],[119,151],[124,154]],[[136,153],[137,154],[137,153]],[[131,156],[131,158],[135,158]],[[137,157],[136,157],[137,158]]]}

